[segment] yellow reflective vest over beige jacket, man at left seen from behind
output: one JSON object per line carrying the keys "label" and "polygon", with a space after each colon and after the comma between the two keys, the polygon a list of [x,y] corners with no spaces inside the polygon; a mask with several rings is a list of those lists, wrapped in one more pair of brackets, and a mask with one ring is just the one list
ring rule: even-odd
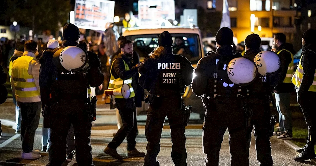
{"label": "yellow reflective vest over beige jacket, man at left seen from behind", "polygon": [[14,83],[15,95],[17,97],[34,97],[40,95],[40,91],[35,85],[34,77],[27,72],[28,66],[33,59],[30,56],[21,56],[12,65],[11,81]]}

